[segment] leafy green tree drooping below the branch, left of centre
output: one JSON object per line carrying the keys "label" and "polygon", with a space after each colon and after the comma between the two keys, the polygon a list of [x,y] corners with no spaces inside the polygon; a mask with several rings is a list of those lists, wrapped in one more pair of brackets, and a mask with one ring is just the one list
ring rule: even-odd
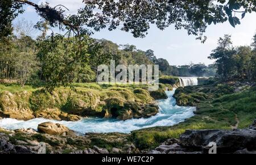
{"label": "leafy green tree drooping below the branch, left of centre", "polygon": [[42,65],[43,77],[46,79],[46,90],[52,91],[60,86],[67,87],[75,81],[78,74],[88,70],[90,39],[88,36],[83,36],[81,41],[82,43],[79,43],[80,40],[76,37],[68,39],[56,35],[39,43],[38,57]]}

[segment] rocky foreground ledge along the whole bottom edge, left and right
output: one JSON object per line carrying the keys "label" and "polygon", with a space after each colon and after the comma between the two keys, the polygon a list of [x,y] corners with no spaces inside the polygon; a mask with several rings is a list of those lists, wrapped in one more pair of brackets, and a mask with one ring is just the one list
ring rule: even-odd
{"label": "rocky foreground ledge along the whole bottom edge, left and right", "polygon": [[0,128],[0,153],[36,154],[40,142],[46,144],[46,153],[63,154],[207,154],[216,143],[217,153],[256,154],[256,120],[247,129],[234,130],[186,130],[179,139],[171,138],[156,149],[139,150],[129,134],[88,133],[76,136],[64,125],[44,122],[33,129],[6,130]]}

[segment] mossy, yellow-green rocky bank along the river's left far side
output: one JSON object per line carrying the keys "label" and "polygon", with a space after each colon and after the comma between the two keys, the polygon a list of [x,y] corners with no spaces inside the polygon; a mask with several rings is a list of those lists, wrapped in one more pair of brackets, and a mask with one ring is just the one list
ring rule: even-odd
{"label": "mossy, yellow-green rocky bank along the river's left far side", "polygon": [[148,92],[146,87],[77,87],[76,91],[57,88],[47,92],[20,91],[0,93],[0,117],[30,120],[79,121],[81,117],[113,117],[127,120],[150,117],[158,113],[156,99],[166,99],[163,89]]}

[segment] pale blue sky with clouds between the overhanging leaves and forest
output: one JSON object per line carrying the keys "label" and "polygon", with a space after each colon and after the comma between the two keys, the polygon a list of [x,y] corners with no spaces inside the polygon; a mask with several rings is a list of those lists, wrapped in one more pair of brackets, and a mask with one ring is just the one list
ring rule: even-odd
{"label": "pale blue sky with clouds between the overhanging leaves and forest", "polygon": [[[42,2],[48,2],[50,6],[64,5],[69,9],[68,13],[75,14],[77,9],[84,6],[82,0],[31,0],[40,5]],[[20,19],[26,19],[29,22],[36,23],[40,17],[35,10],[30,6],[24,6],[26,12],[20,14],[14,20],[14,23]],[[56,29],[55,29],[56,31]],[[58,31],[57,31],[58,32]],[[116,44],[131,44],[137,46],[137,49],[148,50],[152,49],[157,58],[166,59],[170,65],[187,65],[204,63],[206,65],[212,64],[214,61],[207,57],[217,46],[219,37],[225,34],[232,35],[234,46],[250,45],[252,38],[256,32],[256,13],[246,14],[245,18],[241,20],[241,25],[233,28],[228,22],[223,24],[212,24],[207,28],[205,36],[207,41],[202,44],[201,41],[196,40],[195,36],[188,36],[184,29],[175,30],[170,26],[163,31],[151,26],[148,35],[141,38],[135,38],[129,32],[123,32],[119,29],[115,31],[108,31],[102,29],[100,32],[94,33],[93,38],[106,39],[113,41]]]}

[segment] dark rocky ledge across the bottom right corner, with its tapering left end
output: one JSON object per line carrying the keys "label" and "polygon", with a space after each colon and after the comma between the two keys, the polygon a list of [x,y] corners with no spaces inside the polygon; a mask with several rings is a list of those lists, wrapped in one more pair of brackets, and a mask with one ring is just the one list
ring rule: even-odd
{"label": "dark rocky ledge across the bottom right corner, with its tapering left end", "polygon": [[216,143],[217,154],[256,154],[256,120],[247,129],[186,130],[179,139],[168,139],[150,154],[208,154]]}

